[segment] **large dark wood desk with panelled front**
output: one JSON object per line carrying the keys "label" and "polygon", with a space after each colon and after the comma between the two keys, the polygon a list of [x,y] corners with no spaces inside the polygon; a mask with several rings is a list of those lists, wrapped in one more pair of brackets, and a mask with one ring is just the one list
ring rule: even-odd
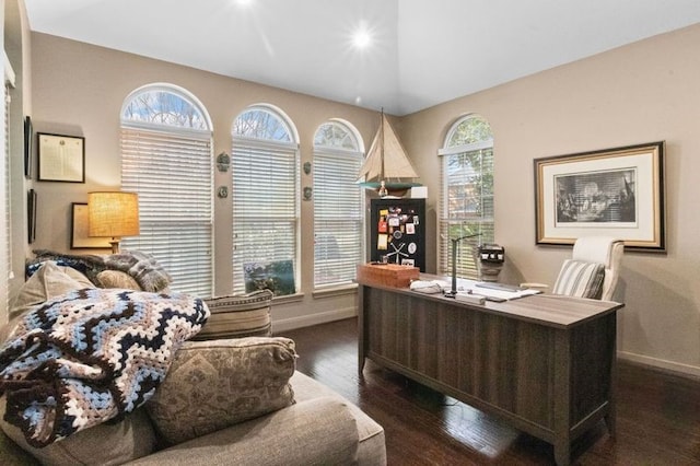
{"label": "large dark wood desk with panelled front", "polygon": [[359,283],[365,358],[553,444],[605,419],[615,433],[616,312],[623,304],[553,295],[475,305]]}

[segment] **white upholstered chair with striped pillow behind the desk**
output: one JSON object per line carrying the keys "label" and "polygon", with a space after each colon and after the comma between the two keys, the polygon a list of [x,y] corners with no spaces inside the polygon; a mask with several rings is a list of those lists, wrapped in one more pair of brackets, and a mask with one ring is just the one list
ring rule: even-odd
{"label": "white upholstered chair with striped pillow behind the desk", "polygon": [[[573,245],[571,258],[561,266],[552,293],[610,301],[617,287],[623,252],[625,243],[615,237],[580,237]],[[522,286],[546,287],[540,283]]]}

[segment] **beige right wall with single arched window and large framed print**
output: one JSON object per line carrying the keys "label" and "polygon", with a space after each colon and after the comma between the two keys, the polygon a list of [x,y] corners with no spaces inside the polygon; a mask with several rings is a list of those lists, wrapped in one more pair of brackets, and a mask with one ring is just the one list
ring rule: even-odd
{"label": "beige right wall with single arched window and large framed print", "polygon": [[[666,141],[667,254],[626,252],[619,294],[623,357],[700,374],[700,25],[465,96],[402,119],[400,136],[439,193],[438,148],[478,113],[495,141],[497,242],[504,279],[553,283],[571,248],[535,245],[533,160]],[[429,241],[435,240],[435,224]],[[430,251],[430,248],[429,248]],[[430,257],[435,267],[435,257]]]}

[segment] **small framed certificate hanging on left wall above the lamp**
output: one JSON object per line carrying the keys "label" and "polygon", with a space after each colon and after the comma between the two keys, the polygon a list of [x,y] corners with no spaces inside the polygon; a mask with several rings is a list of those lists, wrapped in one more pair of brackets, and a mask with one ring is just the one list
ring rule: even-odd
{"label": "small framed certificate hanging on left wall above the lamp", "polygon": [[85,183],[85,138],[37,133],[38,180]]}

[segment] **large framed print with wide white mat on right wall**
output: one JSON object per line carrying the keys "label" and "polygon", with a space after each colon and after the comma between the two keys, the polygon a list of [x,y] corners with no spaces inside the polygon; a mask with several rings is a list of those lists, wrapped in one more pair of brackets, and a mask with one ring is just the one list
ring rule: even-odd
{"label": "large framed print with wide white mat on right wall", "polygon": [[666,251],[664,151],[660,141],[535,159],[536,243],[606,235]]}

